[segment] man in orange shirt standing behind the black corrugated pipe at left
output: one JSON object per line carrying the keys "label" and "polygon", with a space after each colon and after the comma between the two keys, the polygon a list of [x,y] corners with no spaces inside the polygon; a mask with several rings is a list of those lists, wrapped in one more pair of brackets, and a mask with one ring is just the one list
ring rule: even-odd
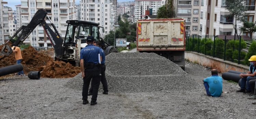
{"label": "man in orange shirt standing behind the black corrugated pipe at left", "polygon": [[[20,64],[21,61],[22,61],[22,55],[21,55],[21,49],[19,47],[16,46],[16,44],[12,44],[12,52],[15,53],[15,59],[16,59],[16,63],[17,64]],[[18,75],[19,76],[24,76],[24,72],[23,70],[22,71],[19,71],[18,72]]]}

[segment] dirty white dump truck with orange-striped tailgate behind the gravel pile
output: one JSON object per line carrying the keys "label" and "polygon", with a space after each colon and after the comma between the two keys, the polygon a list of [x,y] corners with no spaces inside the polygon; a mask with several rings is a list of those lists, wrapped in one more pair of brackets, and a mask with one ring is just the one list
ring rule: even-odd
{"label": "dirty white dump truck with orange-striped tailgate behind the gravel pile", "polygon": [[156,53],[185,69],[185,20],[183,18],[137,21],[137,51]]}

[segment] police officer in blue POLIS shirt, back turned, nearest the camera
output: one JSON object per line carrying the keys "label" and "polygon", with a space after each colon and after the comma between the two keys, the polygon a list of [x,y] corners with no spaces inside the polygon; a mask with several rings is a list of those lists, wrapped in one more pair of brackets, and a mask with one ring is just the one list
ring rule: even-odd
{"label": "police officer in blue POLIS shirt, back turned, nearest the camera", "polygon": [[[93,45],[94,38],[88,36],[86,39],[85,48],[80,52],[80,67],[82,71],[82,77],[84,79],[84,85],[82,89],[83,104],[88,104],[88,89],[90,81],[93,86],[91,105],[97,104],[98,90],[101,80],[100,63],[101,63],[101,50],[99,47]],[[99,57],[100,56],[100,57]]]}

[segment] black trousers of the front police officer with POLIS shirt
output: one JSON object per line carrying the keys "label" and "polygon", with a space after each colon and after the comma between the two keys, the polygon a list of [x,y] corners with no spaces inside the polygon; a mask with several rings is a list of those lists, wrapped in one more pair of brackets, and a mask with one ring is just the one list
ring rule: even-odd
{"label": "black trousers of the front police officer with POLIS shirt", "polygon": [[[98,71],[100,72],[100,70],[98,70]],[[83,85],[83,90],[82,90],[82,96],[83,96],[82,99],[83,100],[87,100],[87,98],[88,98],[88,90],[89,90],[89,85],[91,82],[91,85],[93,85],[91,101],[97,101],[100,80],[101,80],[100,73],[98,73],[98,75],[95,75],[95,74],[85,71],[84,85]]]}

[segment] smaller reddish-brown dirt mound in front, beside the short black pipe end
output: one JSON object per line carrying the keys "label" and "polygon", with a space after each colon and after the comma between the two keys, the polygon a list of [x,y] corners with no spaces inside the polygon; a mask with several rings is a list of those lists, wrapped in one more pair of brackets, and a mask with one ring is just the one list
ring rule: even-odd
{"label": "smaller reddish-brown dirt mound in front, beside the short black pipe end", "polygon": [[74,67],[63,61],[50,61],[46,66],[43,66],[43,68],[41,77],[49,78],[69,78],[81,72],[79,67]]}

